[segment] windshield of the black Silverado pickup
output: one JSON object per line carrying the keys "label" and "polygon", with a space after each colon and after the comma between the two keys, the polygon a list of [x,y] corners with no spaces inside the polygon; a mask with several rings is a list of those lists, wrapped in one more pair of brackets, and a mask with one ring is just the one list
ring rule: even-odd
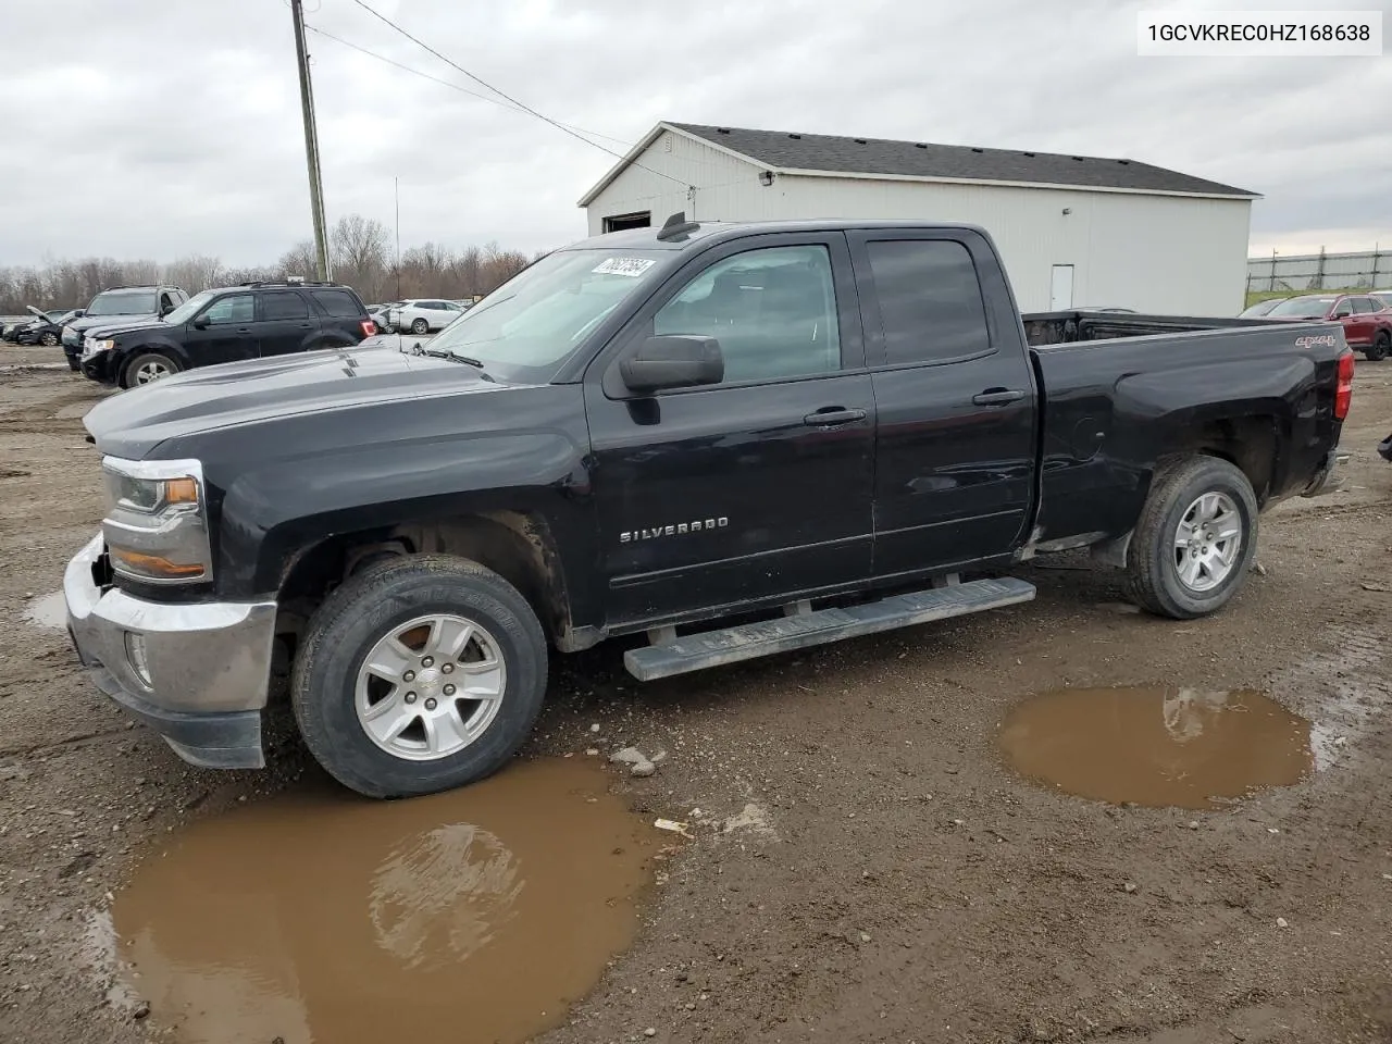
{"label": "windshield of the black Silverado pickup", "polygon": [[465,312],[430,348],[477,359],[489,370],[554,366],[646,285],[661,256],[661,251],[558,251]]}

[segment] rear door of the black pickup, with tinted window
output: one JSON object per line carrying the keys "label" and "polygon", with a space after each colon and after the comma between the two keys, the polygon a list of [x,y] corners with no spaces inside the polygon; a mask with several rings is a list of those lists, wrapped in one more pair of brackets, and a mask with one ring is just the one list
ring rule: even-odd
{"label": "rear door of the black pickup, with tinted window", "polygon": [[967,230],[851,234],[878,415],[874,574],[1009,554],[1034,500],[1036,390],[999,262]]}

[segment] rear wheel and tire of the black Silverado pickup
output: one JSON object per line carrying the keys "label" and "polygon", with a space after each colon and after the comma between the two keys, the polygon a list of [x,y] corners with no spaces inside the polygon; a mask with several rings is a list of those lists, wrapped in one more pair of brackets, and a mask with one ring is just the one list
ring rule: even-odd
{"label": "rear wheel and tire of the black Silverado pickup", "polygon": [[1257,512],[1251,483],[1228,461],[1190,457],[1157,469],[1126,550],[1132,600],[1172,619],[1217,612],[1247,578]]}

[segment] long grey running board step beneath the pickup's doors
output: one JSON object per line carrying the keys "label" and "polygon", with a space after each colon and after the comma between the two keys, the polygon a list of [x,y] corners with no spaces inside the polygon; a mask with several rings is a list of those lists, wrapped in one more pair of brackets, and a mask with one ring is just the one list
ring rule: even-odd
{"label": "long grey running board step beneath the pickup's doors", "polygon": [[841,642],[880,631],[927,624],[948,617],[965,617],[1034,599],[1034,585],[1006,576],[973,580],[951,587],[934,587],[912,594],[895,594],[864,606],[824,608],[780,619],[682,635],[660,644],[624,653],[628,672],[643,682],[674,674],[721,667],[771,653]]}

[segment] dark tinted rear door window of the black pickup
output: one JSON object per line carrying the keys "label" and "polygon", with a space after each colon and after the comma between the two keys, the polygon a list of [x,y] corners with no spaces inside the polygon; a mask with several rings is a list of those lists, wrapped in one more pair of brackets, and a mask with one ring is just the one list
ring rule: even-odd
{"label": "dark tinted rear door window of the black pickup", "polygon": [[885,363],[940,363],[991,351],[976,264],[956,239],[866,244]]}

